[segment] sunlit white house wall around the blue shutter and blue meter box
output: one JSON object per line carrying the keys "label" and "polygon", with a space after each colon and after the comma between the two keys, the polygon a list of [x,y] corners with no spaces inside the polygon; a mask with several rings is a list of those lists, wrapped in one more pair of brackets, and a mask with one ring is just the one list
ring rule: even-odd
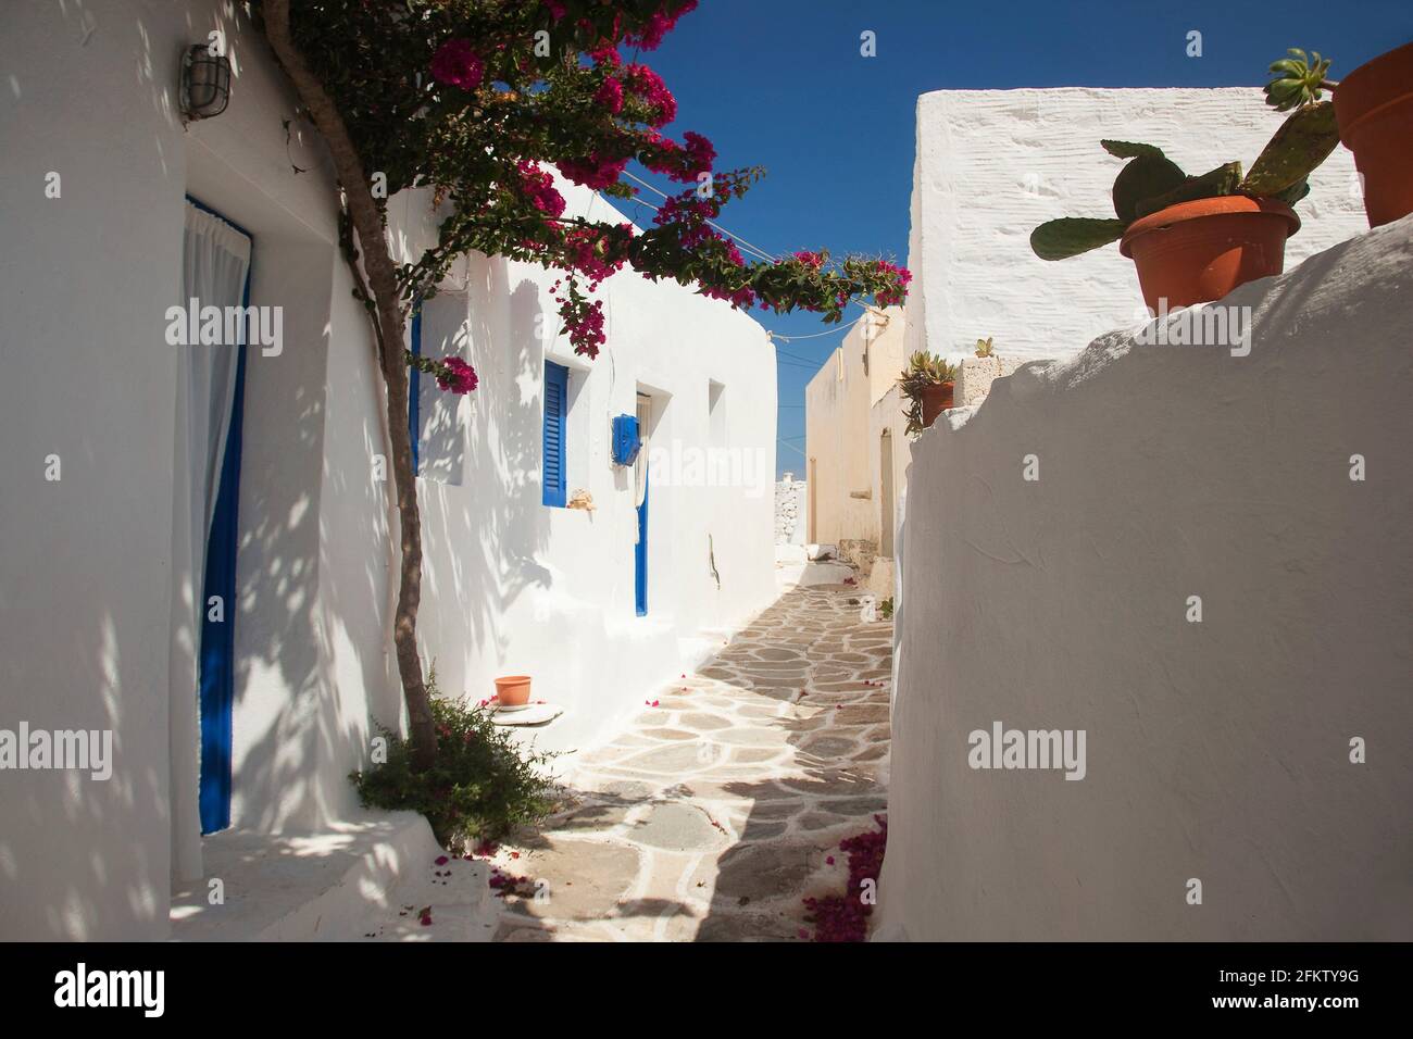
{"label": "sunlit white house wall around the blue shutter and blue meter box", "polygon": [[[622,219],[588,189],[558,187],[568,212]],[[561,749],[610,731],[773,598],[776,382],[773,351],[750,317],[632,273],[599,290],[603,352],[577,358],[555,335],[555,280],[480,257],[432,301],[434,325],[438,308],[442,328],[469,319],[458,345],[480,386],[459,404],[424,390],[424,409],[455,407],[437,450],[452,472],[418,486],[428,543],[421,623],[442,690],[485,698],[497,674],[528,673],[534,698],[567,708],[538,736]],[[427,321],[422,345],[435,353]],[[592,513],[541,505],[543,358],[571,369],[567,491],[588,489]],[[725,410],[715,427],[712,382]],[[612,418],[634,413],[637,392],[654,397],[649,433],[661,462],[650,472],[644,618],[633,597],[632,474],[609,458]],[[728,465],[694,472],[708,450]]]}

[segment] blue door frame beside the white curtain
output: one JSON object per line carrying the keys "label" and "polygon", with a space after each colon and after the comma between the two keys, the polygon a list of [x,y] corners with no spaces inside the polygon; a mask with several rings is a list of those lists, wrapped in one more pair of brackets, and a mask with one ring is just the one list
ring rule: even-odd
{"label": "blue door frame beside the white curtain", "polygon": [[[250,277],[254,271],[254,236],[198,199],[189,195],[187,199],[250,239],[250,266],[246,269],[246,284],[242,291],[242,305],[249,307]],[[206,571],[202,575],[196,691],[201,718],[198,804],[202,834],[212,834],[230,826],[232,715],[236,701],[236,556],[240,536],[240,455],[244,440],[247,339],[249,336],[243,336],[236,353],[230,427],[226,431],[226,450],[220,459],[216,507],[206,539]],[[220,597],[223,621],[211,619],[206,604],[212,595]]]}

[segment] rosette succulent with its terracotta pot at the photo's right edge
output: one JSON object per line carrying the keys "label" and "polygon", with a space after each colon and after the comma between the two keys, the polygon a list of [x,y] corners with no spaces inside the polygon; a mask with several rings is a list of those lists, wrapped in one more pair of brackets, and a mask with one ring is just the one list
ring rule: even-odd
{"label": "rosette succulent with its terracotta pot at the photo's right edge", "polygon": [[1364,178],[1364,211],[1369,226],[1413,212],[1413,42],[1359,65],[1344,79],[1328,78],[1330,59],[1299,48],[1270,65],[1266,103],[1296,113],[1334,95],[1338,140],[1354,153]]}

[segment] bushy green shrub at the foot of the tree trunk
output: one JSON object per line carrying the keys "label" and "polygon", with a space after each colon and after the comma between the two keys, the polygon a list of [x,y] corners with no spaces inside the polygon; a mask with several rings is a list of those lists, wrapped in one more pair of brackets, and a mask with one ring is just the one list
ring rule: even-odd
{"label": "bushy green shrub at the foot of the tree trunk", "polygon": [[414,772],[411,744],[380,725],[387,761],[349,775],[363,807],[420,811],[442,847],[458,854],[541,821],[554,807],[552,777],[541,772],[554,755],[523,755],[509,729],[490,721],[490,711],[441,697],[435,669],[427,690],[437,765]]}

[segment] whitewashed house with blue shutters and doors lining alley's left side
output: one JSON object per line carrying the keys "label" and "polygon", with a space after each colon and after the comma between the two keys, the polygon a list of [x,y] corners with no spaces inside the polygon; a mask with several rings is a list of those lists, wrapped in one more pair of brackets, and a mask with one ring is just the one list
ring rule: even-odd
{"label": "whitewashed house with blue shutters and doors lining alley's left side", "polygon": [[[236,69],[230,106],[184,127],[179,61],[212,30]],[[348,773],[373,722],[401,714],[372,332],[338,247],[329,164],[298,123],[287,141],[295,100],[243,17],[209,0],[25,6],[0,49],[0,728],[113,741],[107,780],[0,772],[0,934],[162,937],[174,878],[202,874],[198,790],[222,793],[198,782],[198,739],[222,736],[195,710],[203,537],[188,533],[218,485],[187,433],[203,418],[187,385],[211,358],[164,341],[184,225],[194,247],[249,254],[250,304],[283,308],[280,351],[247,349],[237,409],[220,622],[235,830],[359,818]],[[565,194],[571,211],[613,216],[588,191]],[[425,196],[393,199],[390,219],[398,259],[413,259],[432,228]],[[444,693],[483,698],[496,674],[531,674],[534,695],[567,710],[540,742],[564,748],[774,595],[776,369],[750,318],[630,273],[599,290],[608,346],[586,363],[555,336],[554,280],[471,257],[422,314],[422,352],[469,359],[480,386],[418,394],[420,636]],[[565,498],[589,492],[592,512],[545,505],[545,385],[561,377]],[[609,458],[620,414],[642,414],[666,459],[642,561],[633,474]],[[708,448],[735,468],[694,468]]]}

